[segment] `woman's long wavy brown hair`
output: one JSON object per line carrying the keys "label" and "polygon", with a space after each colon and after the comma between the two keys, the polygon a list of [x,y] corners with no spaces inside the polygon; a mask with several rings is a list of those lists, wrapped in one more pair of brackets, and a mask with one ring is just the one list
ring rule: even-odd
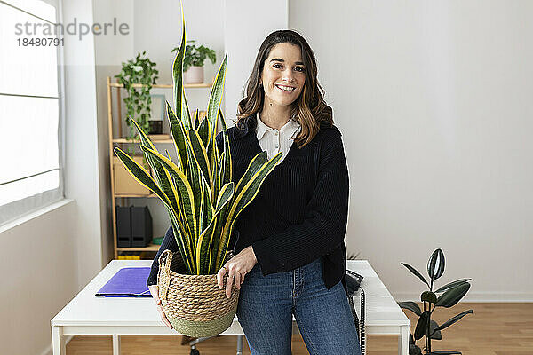
{"label": "woman's long wavy brown hair", "polygon": [[265,38],[259,48],[255,64],[248,78],[246,87],[246,97],[239,102],[237,114],[237,126],[242,126],[244,121],[253,114],[259,113],[263,109],[265,91],[259,86],[259,78],[263,73],[263,66],[267,60],[270,50],[278,43],[291,43],[298,45],[302,52],[302,60],[305,66],[306,82],[298,96],[292,104],[290,116],[299,122],[301,130],[294,141],[298,147],[306,146],[319,132],[320,126],[326,123],[333,124],[333,115],[330,106],[327,106],[323,99],[323,89],[318,83],[316,59],[314,52],[307,41],[297,32],[290,29],[274,31]]}

